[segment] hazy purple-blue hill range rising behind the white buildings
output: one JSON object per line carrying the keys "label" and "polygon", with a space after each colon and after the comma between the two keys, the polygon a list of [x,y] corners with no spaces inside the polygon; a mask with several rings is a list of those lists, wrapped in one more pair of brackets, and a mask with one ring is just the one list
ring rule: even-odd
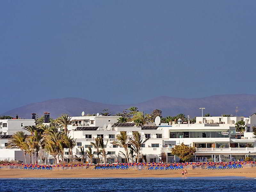
{"label": "hazy purple-blue hill range rising behind the white buildings", "polygon": [[6,111],[1,115],[14,117],[18,114],[21,118],[31,118],[31,113],[36,113],[40,117],[45,111],[48,111],[50,117],[56,118],[62,113],[68,113],[70,116],[80,116],[82,111],[85,111],[85,114],[96,114],[102,112],[104,108],[108,108],[112,114],[116,114],[132,106],[138,107],[140,111],[145,113],[160,109],[163,111],[163,116],[175,116],[179,113],[190,117],[201,116],[200,107],[206,108],[204,113],[210,113],[212,116],[220,116],[221,114],[250,116],[256,112],[256,95],[214,95],[197,99],[162,96],[131,105],[109,105],[81,98],[63,98],[31,103]]}

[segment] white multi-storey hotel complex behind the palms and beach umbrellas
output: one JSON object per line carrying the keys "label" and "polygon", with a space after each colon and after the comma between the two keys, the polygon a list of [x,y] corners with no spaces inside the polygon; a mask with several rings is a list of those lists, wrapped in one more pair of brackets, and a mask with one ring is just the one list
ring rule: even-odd
{"label": "white multi-storey hotel complex behind the palms and beach umbrellas", "polygon": [[[171,125],[149,124],[147,126],[136,127],[134,123],[117,123],[118,116],[77,116],[72,117],[76,122],[68,126],[68,135],[76,139],[77,146],[73,149],[73,156],[80,158],[80,147],[88,148],[94,138],[98,136],[103,137],[106,142],[107,162],[125,162],[125,157],[120,151],[124,152],[124,148],[120,148],[112,144],[116,140],[116,135],[125,131],[127,135],[132,136],[132,132],[138,131],[141,133],[142,138],[150,138],[142,146],[140,154],[146,155],[147,162],[178,162],[179,158],[173,156],[171,151],[174,145],[185,145],[196,147],[195,159],[200,157],[207,157],[207,160],[212,161],[230,161],[231,159],[241,159],[249,155],[252,159],[256,159],[256,144],[252,128],[256,126],[256,114],[249,118],[245,117],[196,117],[195,124],[175,124]],[[34,120],[34,119],[33,119]],[[247,127],[245,132],[236,132],[236,122],[244,120]],[[18,125],[17,125],[18,126]],[[21,131],[22,127],[19,126]],[[24,130],[22,130],[24,131]],[[13,134],[13,133],[12,133]],[[10,137],[2,135],[2,137]],[[107,143],[108,141],[108,143]],[[22,153],[16,149],[15,153],[8,152],[11,149],[5,149],[4,145],[8,139],[1,139],[0,136],[0,159],[10,156],[9,159],[20,160],[24,162]],[[85,149],[85,150],[86,150]],[[14,150],[14,149],[12,149]],[[20,152],[17,152],[20,151]],[[92,148],[96,152],[95,148]],[[66,160],[69,158],[68,152],[65,152]],[[81,160],[81,159],[80,159]],[[100,156],[101,160],[101,156]],[[130,162],[134,162],[130,157]],[[143,160],[144,161],[144,160]],[[88,157],[87,157],[88,162]],[[97,162],[97,155],[93,157],[93,163]],[[47,156],[47,163],[53,163],[52,156]]]}

